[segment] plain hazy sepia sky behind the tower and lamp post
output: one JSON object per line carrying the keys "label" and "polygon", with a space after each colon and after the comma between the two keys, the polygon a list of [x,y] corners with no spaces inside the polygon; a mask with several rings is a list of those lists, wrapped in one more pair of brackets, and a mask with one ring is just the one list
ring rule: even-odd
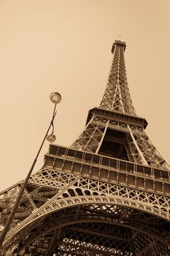
{"label": "plain hazy sepia sky behind the tower and lamp post", "polygon": [[80,135],[101,102],[119,35],[136,113],[170,163],[169,11],[169,0],[0,0],[0,190],[26,177],[52,116],[51,92],[62,95],[56,143]]}

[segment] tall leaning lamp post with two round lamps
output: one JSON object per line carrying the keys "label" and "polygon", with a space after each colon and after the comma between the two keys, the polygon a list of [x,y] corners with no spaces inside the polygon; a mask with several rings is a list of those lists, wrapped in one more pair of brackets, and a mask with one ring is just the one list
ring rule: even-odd
{"label": "tall leaning lamp post with two round lamps", "polygon": [[[23,183],[23,186],[21,187],[20,192],[18,193],[18,197],[17,197],[17,199],[16,199],[16,201],[15,201],[15,204],[14,204],[14,206],[13,206],[13,208],[12,208],[11,214],[9,215],[9,218],[7,219],[7,223],[6,223],[6,225],[5,225],[5,227],[4,227],[4,230],[3,230],[2,234],[1,234],[0,249],[1,249],[2,244],[4,243],[4,239],[5,239],[6,236],[7,236],[7,232],[8,232],[8,230],[9,230],[10,225],[11,225],[12,219],[13,219],[14,216],[15,216],[15,212],[16,212],[17,209],[18,209],[18,206],[19,206],[19,203],[20,203],[20,199],[21,199],[21,197],[22,197],[22,195],[23,195],[23,192],[24,192],[24,189],[26,188],[26,185],[28,184],[28,179],[30,178],[31,173],[32,173],[32,171],[34,170],[34,166],[35,166],[35,164],[36,164],[36,160],[37,160],[38,157],[39,157],[39,153],[40,153],[40,151],[42,150],[42,146],[43,146],[44,143],[45,143],[45,139],[47,139],[48,141],[50,141],[50,143],[53,143],[53,142],[55,141],[55,135],[54,135],[54,133],[53,133],[53,132],[54,132],[54,124],[53,124],[53,121],[54,121],[55,115],[56,115],[56,113],[57,113],[56,105],[61,102],[61,94],[58,94],[58,92],[53,92],[52,94],[50,94],[50,100],[55,104],[54,110],[53,110],[53,116],[52,116],[52,119],[51,119],[51,121],[50,121],[50,126],[48,127],[47,132],[46,132],[46,134],[45,134],[45,137],[44,137],[44,139],[42,140],[42,144],[41,144],[41,146],[39,147],[39,151],[38,151],[38,153],[36,154],[36,158],[34,159],[32,165],[31,165],[31,168],[30,168],[30,170],[28,171],[28,175],[26,176],[26,179],[25,179],[25,181],[24,181],[24,183]],[[51,127],[53,127],[53,131],[52,131],[52,133],[51,133],[50,135],[48,135],[48,132],[50,131],[50,128],[51,128]]]}

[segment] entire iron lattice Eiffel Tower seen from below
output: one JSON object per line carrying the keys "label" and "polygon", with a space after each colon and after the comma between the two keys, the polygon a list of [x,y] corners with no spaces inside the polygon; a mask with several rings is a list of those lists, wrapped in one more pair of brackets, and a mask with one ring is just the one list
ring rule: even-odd
{"label": "entire iron lattice Eiffel Tower seen from below", "polygon": [[[50,144],[20,200],[1,255],[170,255],[170,167],[136,115],[125,42],[99,108],[71,147]],[[1,228],[23,181],[0,195]]]}

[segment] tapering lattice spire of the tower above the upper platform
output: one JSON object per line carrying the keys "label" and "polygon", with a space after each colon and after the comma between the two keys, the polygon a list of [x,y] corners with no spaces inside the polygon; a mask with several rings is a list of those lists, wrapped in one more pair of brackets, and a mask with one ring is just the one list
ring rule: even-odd
{"label": "tapering lattice spire of the tower above the upper platform", "polygon": [[109,80],[104,97],[101,100],[100,108],[136,116],[125,73],[124,50],[125,43],[115,41],[112,48],[112,53],[114,54],[112,67],[109,72]]}

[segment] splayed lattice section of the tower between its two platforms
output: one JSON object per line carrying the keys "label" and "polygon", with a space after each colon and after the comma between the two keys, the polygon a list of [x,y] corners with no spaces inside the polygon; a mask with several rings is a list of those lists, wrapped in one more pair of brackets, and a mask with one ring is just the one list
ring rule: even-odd
{"label": "splayed lattice section of the tower between its two platforms", "polygon": [[[120,131],[121,133],[118,134],[115,131]],[[107,133],[110,138],[107,137]],[[120,140],[118,140],[117,136],[120,137]],[[128,156],[127,159],[131,162],[170,170],[167,162],[155,146],[152,145],[146,132],[144,132],[144,128],[117,121],[108,121],[96,116],[90,119],[85,130],[71,147],[98,154],[102,143],[107,139],[124,144]],[[115,155],[114,157],[122,157],[121,152],[120,155]]]}

